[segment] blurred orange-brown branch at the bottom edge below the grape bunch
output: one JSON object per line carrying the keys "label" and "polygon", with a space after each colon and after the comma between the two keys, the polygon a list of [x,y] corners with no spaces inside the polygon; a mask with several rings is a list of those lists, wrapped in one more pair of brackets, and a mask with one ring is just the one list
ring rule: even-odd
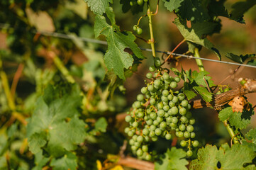
{"label": "blurred orange-brown branch at the bottom edge below the grape bunch", "polygon": [[133,168],[133,169],[138,169],[138,170],[145,170],[145,169],[154,170],[155,169],[155,165],[152,162],[142,161],[139,159],[135,159],[133,157],[120,158],[117,164],[129,167],[129,168]]}

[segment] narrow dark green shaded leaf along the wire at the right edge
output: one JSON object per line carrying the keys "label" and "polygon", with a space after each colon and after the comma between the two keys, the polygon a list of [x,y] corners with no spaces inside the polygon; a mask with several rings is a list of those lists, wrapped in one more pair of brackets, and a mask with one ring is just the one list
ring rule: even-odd
{"label": "narrow dark green shaded leaf along the wire at the right edge", "polygon": [[245,61],[245,64],[250,65],[256,65],[256,55],[250,54],[250,55],[234,55],[233,53],[228,53],[226,57],[228,57],[230,60],[233,60],[234,62],[238,62],[240,64],[243,64]]}

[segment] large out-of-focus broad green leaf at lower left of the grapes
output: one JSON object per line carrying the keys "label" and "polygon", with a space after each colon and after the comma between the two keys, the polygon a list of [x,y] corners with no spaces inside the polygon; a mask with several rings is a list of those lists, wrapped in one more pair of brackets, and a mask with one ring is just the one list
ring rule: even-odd
{"label": "large out-of-focus broad green leaf at lower left of the grapes", "polygon": [[71,151],[84,141],[87,135],[86,124],[78,118],[82,101],[79,87],[67,86],[66,89],[62,94],[65,88],[48,86],[44,95],[38,98],[27,125],[31,151],[38,152],[45,145],[44,149],[49,154],[60,157],[66,150]]}

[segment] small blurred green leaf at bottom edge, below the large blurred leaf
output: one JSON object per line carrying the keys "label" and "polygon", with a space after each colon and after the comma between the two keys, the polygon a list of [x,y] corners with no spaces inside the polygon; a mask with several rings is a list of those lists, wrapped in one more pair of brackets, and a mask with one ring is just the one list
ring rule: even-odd
{"label": "small blurred green leaf at bottom edge, below the large blurred leaf", "polygon": [[72,153],[67,153],[60,159],[52,159],[50,163],[53,170],[76,170],[77,169],[77,157]]}

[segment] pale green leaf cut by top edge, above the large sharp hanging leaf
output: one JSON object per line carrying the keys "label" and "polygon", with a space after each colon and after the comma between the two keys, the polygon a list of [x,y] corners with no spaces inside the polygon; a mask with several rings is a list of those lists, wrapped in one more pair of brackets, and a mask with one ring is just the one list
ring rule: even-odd
{"label": "pale green leaf cut by top edge, above the large sharp hanging leaf", "polygon": [[113,0],[84,0],[96,15],[102,15],[106,12],[109,3],[113,3]]}

